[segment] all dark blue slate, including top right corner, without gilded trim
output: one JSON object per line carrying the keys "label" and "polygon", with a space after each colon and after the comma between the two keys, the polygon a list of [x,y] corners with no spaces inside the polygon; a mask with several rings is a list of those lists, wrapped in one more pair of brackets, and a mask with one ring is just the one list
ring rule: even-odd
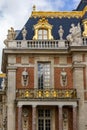
{"label": "all dark blue slate, including top right corner, without gilded trim", "polygon": [[[76,11],[81,11],[83,10],[83,8],[87,5],[87,0],[81,0],[80,4],[78,5]],[[58,40],[59,39],[59,34],[58,34],[58,30],[59,30],[59,26],[62,25],[63,30],[64,30],[64,36],[63,39],[66,39],[66,36],[69,34],[69,30],[71,28],[71,24],[74,23],[75,25],[77,25],[78,23],[81,24],[81,21],[83,19],[87,18],[87,12],[84,14],[83,18],[68,18],[68,17],[62,17],[62,18],[46,18],[48,20],[48,23],[53,25],[52,28],[52,35],[54,37],[54,40]],[[34,25],[37,24],[38,20],[40,18],[39,17],[30,17],[27,21],[27,23],[24,25],[26,27],[27,30],[27,36],[26,36],[26,40],[32,40],[33,36],[34,36]],[[83,30],[82,24],[81,24],[81,28]],[[23,28],[22,28],[23,29]],[[18,33],[16,40],[23,40],[22,37],[22,29],[20,30],[20,32]]]}

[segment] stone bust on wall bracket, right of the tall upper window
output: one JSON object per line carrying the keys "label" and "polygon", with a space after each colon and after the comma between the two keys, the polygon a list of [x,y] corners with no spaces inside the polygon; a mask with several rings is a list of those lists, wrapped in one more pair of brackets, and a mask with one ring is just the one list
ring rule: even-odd
{"label": "stone bust on wall bracket, right of the tall upper window", "polygon": [[67,73],[64,68],[62,69],[60,76],[61,76],[60,77],[61,86],[66,86],[67,85]]}

